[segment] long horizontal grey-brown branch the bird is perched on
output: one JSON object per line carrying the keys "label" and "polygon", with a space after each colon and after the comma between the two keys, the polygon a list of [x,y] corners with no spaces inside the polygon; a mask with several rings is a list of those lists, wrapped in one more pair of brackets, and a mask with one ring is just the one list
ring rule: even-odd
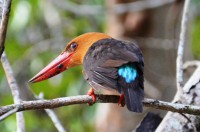
{"label": "long horizontal grey-brown branch the bird is perched on", "polygon": [[[118,103],[119,96],[118,95],[96,95],[97,101],[96,103]],[[18,111],[25,110],[36,110],[36,109],[52,109],[58,108],[61,106],[68,106],[74,104],[86,104],[92,103],[92,97],[89,95],[79,95],[79,96],[71,96],[71,97],[62,97],[56,98],[52,100],[35,100],[35,101],[22,101],[19,104],[12,104],[7,106],[0,107],[0,116],[7,113],[8,111],[19,108]],[[200,106],[193,105],[184,105],[178,103],[169,103],[154,99],[143,100],[143,105],[146,107],[151,107],[160,110],[167,110],[178,113],[192,114],[192,115],[200,115]],[[120,108],[119,108],[120,109]]]}

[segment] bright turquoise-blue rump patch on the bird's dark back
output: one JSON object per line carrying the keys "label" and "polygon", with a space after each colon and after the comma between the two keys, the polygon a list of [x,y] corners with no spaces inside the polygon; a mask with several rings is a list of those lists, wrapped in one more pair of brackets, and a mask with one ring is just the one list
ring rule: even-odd
{"label": "bright turquoise-blue rump patch on the bird's dark back", "polygon": [[119,67],[118,74],[123,77],[127,83],[131,83],[137,76],[137,70],[134,65],[125,64]]}

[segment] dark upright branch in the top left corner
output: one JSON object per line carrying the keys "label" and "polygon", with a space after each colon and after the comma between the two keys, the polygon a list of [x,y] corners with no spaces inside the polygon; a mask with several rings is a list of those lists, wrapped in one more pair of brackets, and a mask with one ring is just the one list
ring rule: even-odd
{"label": "dark upright branch in the top left corner", "polygon": [[12,0],[4,0],[3,3],[2,21],[0,25],[0,58],[5,48],[5,39],[8,27],[9,14],[11,10],[11,3]]}

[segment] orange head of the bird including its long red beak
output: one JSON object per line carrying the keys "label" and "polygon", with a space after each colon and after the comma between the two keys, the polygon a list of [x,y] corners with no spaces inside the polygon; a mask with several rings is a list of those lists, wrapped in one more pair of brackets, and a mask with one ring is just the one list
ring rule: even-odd
{"label": "orange head of the bird including its long red beak", "polygon": [[49,79],[71,67],[81,65],[89,47],[98,40],[110,38],[103,33],[86,33],[71,40],[64,51],[50,64],[35,75],[29,82],[35,83]]}

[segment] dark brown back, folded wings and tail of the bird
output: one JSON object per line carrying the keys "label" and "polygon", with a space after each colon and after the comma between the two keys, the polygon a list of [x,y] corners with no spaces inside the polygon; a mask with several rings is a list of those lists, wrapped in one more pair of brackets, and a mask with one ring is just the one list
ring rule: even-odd
{"label": "dark brown back, folded wings and tail of the bird", "polygon": [[[119,68],[131,65],[131,75],[119,75]],[[123,42],[112,38],[95,42],[87,51],[84,61],[84,76],[95,89],[113,89],[125,95],[127,108],[133,112],[142,112],[143,56],[135,43]],[[124,70],[122,70],[124,71]],[[130,70],[128,70],[130,71]]]}

